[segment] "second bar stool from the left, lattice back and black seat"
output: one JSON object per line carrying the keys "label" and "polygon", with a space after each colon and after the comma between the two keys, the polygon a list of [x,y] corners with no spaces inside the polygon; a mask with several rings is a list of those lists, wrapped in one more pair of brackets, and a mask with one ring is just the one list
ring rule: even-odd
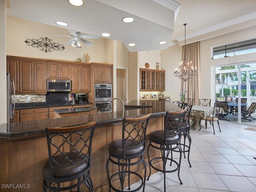
{"label": "second bar stool from the left, lattice back and black seat", "polygon": [[[130,190],[130,174],[134,174],[140,178],[142,183],[138,188],[130,190],[130,192],[138,191],[142,188],[142,186],[144,192],[147,166],[143,158],[143,154],[145,152],[146,129],[150,116],[151,114],[138,118],[124,118],[122,126],[122,139],[112,142],[109,146],[109,158],[106,163],[109,191],[111,189],[116,192],[124,191],[124,180],[126,174],[128,174],[128,189]],[[136,159],[138,157],[138,160],[131,162],[132,159]],[[112,176],[110,176],[108,170],[109,162],[112,162],[118,166],[118,172],[114,173]],[[145,168],[144,181],[140,174],[130,171],[130,166],[139,164],[140,162],[142,162]],[[112,178],[116,175],[119,176],[121,190],[116,189],[111,184]]]}

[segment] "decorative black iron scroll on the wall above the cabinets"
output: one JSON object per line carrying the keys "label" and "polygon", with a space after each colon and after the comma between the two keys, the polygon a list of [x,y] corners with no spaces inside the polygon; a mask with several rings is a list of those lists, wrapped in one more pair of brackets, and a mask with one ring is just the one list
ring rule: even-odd
{"label": "decorative black iron scroll on the wall above the cabinets", "polygon": [[40,48],[41,51],[44,51],[46,53],[52,52],[52,50],[63,51],[65,49],[64,45],[55,43],[54,41],[52,41],[52,39],[48,39],[47,37],[45,37],[45,38],[41,37],[40,40],[39,39],[27,39],[25,41],[25,43],[32,47]]}

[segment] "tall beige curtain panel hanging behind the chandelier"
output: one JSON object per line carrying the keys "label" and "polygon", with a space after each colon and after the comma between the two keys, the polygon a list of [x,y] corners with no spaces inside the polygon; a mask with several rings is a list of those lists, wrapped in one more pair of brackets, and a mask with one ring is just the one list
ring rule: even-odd
{"label": "tall beige curtain panel hanging behind the chandelier", "polygon": [[186,91],[186,98],[193,98],[193,105],[198,105],[199,99],[199,79],[200,79],[200,55],[199,55],[199,42],[187,44],[182,47],[182,61],[184,58],[184,51],[186,49],[187,62],[192,61],[192,64],[197,68],[198,74],[192,76],[187,82],[183,80],[181,83],[181,92]]}

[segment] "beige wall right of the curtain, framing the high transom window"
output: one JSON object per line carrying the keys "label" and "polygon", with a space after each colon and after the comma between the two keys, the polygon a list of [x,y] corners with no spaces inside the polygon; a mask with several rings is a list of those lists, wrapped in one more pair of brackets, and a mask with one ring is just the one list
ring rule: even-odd
{"label": "beige wall right of the curtain, framing the high transom window", "polygon": [[[211,59],[211,48],[219,45],[239,42],[242,40],[247,40],[250,38],[256,37],[256,26],[243,29],[240,31],[232,32],[208,40],[200,42],[200,82],[201,82],[201,94],[200,98],[211,98],[215,99],[215,73],[211,73],[212,70],[215,70],[215,66],[222,66],[228,64],[239,64],[243,62],[255,62],[256,53],[244,54],[226,58]],[[213,82],[213,83],[212,83]],[[211,86],[210,86],[211,84]]]}

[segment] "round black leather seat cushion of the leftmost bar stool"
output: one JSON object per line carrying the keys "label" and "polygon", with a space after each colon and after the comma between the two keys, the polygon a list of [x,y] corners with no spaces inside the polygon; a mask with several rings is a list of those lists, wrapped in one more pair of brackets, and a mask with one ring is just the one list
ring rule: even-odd
{"label": "round black leather seat cushion of the leftmost bar stool", "polygon": [[[85,156],[85,154],[82,153],[82,156]],[[76,160],[77,157],[78,157],[77,152],[71,152],[68,155],[68,159],[73,162]],[[62,154],[58,154],[58,155],[54,156],[54,160],[58,163],[62,162],[64,159],[65,159],[65,157]],[[52,163],[52,166],[54,166],[52,168],[53,177],[54,178],[66,178],[66,177],[78,175],[78,174],[86,171],[86,169],[89,168],[88,162],[87,162],[87,160],[80,162],[81,160],[83,160],[83,158],[80,156],[76,160],[77,163],[72,164],[72,162],[70,162],[66,159],[61,164],[62,166],[57,166],[57,164],[53,162]],[[43,166],[43,175],[44,175],[44,177],[50,179],[49,160],[47,160]]]}

